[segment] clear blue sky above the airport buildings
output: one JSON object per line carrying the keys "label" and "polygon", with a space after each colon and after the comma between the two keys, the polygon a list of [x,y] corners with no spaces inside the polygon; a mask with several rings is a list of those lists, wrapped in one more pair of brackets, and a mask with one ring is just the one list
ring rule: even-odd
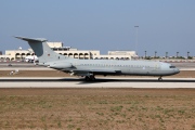
{"label": "clear blue sky above the airport buildings", "polygon": [[195,0],[0,0],[0,51],[29,49],[13,36],[101,54],[195,56]]}

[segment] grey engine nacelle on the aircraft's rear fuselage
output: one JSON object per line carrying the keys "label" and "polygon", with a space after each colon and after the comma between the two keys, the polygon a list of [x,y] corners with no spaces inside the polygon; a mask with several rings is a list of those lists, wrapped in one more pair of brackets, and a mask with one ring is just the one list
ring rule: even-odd
{"label": "grey engine nacelle on the aircraft's rear fuselage", "polygon": [[56,62],[56,63],[51,63],[49,67],[51,68],[70,68],[73,65],[67,62]]}

